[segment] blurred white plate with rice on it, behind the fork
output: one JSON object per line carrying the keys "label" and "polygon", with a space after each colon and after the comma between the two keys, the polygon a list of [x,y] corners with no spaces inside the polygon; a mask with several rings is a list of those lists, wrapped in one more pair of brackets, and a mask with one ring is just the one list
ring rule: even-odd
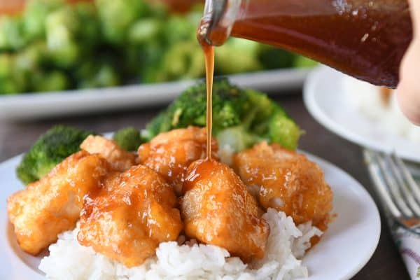
{"label": "blurred white plate with rice on it, behind the fork", "polygon": [[420,162],[419,127],[405,120],[393,96],[384,101],[379,94],[378,87],[326,66],[314,70],[304,84],[304,104],[328,130],[360,146]]}

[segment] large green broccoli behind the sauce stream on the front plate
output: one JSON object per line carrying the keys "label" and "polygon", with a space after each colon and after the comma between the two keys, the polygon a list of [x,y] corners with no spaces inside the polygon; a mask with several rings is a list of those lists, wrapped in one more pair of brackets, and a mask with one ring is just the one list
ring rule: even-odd
{"label": "large green broccoli behind the sauce stream on the front plate", "polygon": [[[190,87],[141,133],[148,141],[160,132],[175,128],[206,125],[206,85]],[[243,90],[228,80],[216,80],[213,85],[213,132],[221,147],[235,151],[260,141],[296,148],[300,128],[267,95],[256,90]]]}

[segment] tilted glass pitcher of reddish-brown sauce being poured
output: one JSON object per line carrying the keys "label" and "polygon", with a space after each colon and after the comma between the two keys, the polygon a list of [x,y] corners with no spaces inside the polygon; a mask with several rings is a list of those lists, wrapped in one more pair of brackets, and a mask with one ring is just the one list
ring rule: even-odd
{"label": "tilted glass pitcher of reddish-brown sauce being poured", "polygon": [[407,0],[207,0],[199,39],[222,45],[230,35],[396,87],[412,21]]}

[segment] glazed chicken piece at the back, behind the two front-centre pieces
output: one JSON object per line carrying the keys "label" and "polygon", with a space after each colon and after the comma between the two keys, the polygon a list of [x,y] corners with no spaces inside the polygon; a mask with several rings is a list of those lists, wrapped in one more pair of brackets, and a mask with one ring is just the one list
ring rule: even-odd
{"label": "glazed chicken piece at the back, behind the two front-centre pieces", "polygon": [[[141,145],[138,151],[139,162],[164,176],[174,187],[176,194],[180,195],[188,166],[195,160],[206,157],[206,147],[205,128],[171,130]],[[217,150],[217,141],[212,139],[211,151],[214,158]]]}

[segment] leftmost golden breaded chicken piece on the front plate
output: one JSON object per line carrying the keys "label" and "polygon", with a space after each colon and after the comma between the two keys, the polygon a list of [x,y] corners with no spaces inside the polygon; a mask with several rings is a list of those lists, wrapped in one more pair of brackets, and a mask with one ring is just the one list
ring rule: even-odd
{"label": "leftmost golden breaded chicken piece on the front plate", "polygon": [[36,255],[76,226],[83,197],[96,192],[111,167],[85,151],[66,158],[43,179],[8,197],[8,217],[22,250]]}

